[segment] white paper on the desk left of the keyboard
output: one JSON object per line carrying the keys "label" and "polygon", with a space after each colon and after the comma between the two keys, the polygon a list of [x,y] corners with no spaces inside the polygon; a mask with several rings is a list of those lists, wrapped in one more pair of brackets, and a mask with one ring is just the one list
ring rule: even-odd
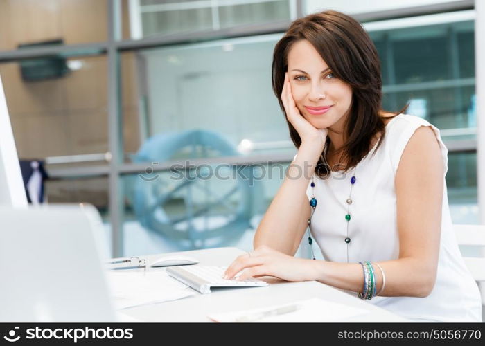
{"label": "white paper on the desk left of the keyboard", "polygon": [[108,271],[117,309],[155,304],[197,294],[165,271]]}

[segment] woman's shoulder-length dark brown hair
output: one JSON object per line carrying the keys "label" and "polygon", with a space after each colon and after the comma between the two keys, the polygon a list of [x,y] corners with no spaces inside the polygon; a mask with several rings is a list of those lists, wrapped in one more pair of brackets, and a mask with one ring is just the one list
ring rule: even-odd
{"label": "woman's shoulder-length dark brown hair", "polygon": [[[376,134],[380,134],[376,151],[385,136],[385,121],[380,116],[384,111],[381,108],[382,78],[376,46],[358,21],[341,12],[328,10],[294,21],[274,47],[273,53],[272,86],[283,114],[285,107],[281,101],[281,91],[288,70],[288,53],[292,45],[301,39],[310,42],[335,77],[352,88],[351,109],[344,124],[344,138],[347,139],[337,150],[337,153],[342,152],[342,157],[346,158],[347,171],[369,153],[372,138]],[[406,109],[407,105],[394,112],[394,116]],[[288,118],[286,121],[290,129],[290,138],[295,147],[299,148],[301,138]],[[327,137],[326,145],[329,143],[330,138]],[[323,156],[324,153],[315,167],[315,173],[321,177],[327,176],[330,171]]]}

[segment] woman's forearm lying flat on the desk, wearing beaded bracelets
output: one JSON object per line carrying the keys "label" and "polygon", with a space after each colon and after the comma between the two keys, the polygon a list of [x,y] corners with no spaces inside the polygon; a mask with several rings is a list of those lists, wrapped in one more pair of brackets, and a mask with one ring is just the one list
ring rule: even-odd
{"label": "woman's forearm lying flat on the desk, wearing beaded bracelets", "polygon": [[[327,262],[308,260],[310,280],[347,291],[361,292],[364,284],[364,271],[359,263]],[[382,288],[382,274],[372,262],[376,275],[377,292]],[[423,266],[423,262],[414,258],[401,258],[378,262],[385,273],[385,289],[379,295],[387,297],[426,297],[432,291],[436,270]]]}

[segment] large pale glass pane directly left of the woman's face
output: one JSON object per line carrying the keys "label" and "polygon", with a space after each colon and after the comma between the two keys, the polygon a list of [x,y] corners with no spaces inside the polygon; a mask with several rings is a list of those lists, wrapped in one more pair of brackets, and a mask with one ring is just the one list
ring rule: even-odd
{"label": "large pale glass pane directly left of the woman's face", "polygon": [[[179,143],[165,147],[166,152],[148,161],[183,158],[180,151],[188,136],[198,136],[198,144],[206,147],[199,157],[294,154],[271,86],[272,50],[280,37],[264,35],[122,53],[123,60],[133,56],[135,79],[141,84],[142,138],[164,145],[164,138],[175,136],[173,140]],[[123,90],[128,87],[123,84]],[[145,143],[143,149],[156,149],[155,144]],[[143,160],[143,155],[136,158],[130,149],[138,148],[125,138],[125,159]]]}

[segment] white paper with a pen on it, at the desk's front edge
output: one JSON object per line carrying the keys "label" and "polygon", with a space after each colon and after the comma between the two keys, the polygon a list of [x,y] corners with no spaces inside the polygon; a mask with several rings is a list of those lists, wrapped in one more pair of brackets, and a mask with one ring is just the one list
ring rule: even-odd
{"label": "white paper with a pen on it, at the desk's front edge", "polygon": [[208,317],[215,322],[343,322],[367,313],[365,309],[312,298],[261,309],[211,313]]}

